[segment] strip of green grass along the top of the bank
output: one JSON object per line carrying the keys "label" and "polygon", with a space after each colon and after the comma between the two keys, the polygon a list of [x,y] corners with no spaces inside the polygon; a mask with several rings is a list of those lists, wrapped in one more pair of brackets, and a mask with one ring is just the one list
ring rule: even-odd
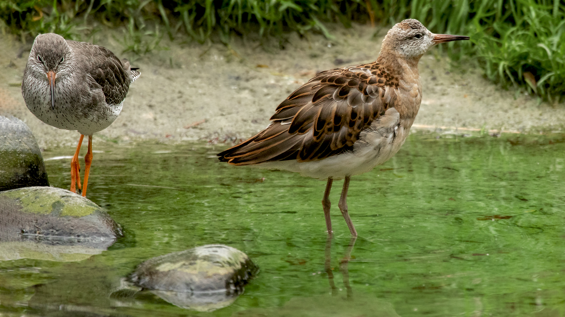
{"label": "strip of green grass along the top of the bank", "polygon": [[[56,32],[75,38],[97,22],[123,27],[127,50],[144,54],[163,34],[198,42],[250,32],[331,33],[352,22],[388,27],[406,17],[437,33],[465,34],[451,58],[476,57],[486,77],[550,102],[565,95],[565,11],[561,0],[3,0],[0,19],[23,39]],[[177,35],[179,34],[179,35]],[[143,36],[152,40],[143,41]]]}

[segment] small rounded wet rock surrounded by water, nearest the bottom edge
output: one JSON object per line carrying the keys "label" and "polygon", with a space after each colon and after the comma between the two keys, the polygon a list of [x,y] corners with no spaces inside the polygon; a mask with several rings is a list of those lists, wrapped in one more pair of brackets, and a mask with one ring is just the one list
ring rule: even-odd
{"label": "small rounded wet rock surrounded by water, nearest the bottom edge", "polygon": [[240,250],[210,244],[149,259],[130,280],[173,305],[213,311],[235,301],[257,271]]}

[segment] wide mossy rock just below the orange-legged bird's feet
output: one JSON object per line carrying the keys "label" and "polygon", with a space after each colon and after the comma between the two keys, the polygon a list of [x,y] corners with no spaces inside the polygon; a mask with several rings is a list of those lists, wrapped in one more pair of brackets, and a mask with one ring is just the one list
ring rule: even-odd
{"label": "wide mossy rock just below the orange-legged bird's feet", "polygon": [[[62,188],[24,187],[0,192],[0,243],[5,244],[0,248],[0,259],[29,258],[29,254],[46,252],[52,256],[99,253],[92,249],[105,250],[121,235],[120,226],[105,210]],[[46,246],[51,248],[45,250]],[[76,260],[65,256],[58,261]]]}

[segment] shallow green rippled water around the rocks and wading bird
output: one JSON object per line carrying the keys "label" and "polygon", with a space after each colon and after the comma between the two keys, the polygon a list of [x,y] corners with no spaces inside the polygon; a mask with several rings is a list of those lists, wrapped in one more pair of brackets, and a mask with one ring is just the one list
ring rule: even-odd
{"label": "shallow green rippled water around the rocks and wading bird", "polygon": [[[94,143],[88,198],[126,236],[79,262],[0,262],[0,316],[565,316],[564,135],[411,135],[351,178],[349,262],[341,181],[327,241],[325,182],[220,163],[226,147]],[[69,160],[46,169],[69,187]],[[231,306],[116,292],[142,261],[211,243],[260,267]]]}

